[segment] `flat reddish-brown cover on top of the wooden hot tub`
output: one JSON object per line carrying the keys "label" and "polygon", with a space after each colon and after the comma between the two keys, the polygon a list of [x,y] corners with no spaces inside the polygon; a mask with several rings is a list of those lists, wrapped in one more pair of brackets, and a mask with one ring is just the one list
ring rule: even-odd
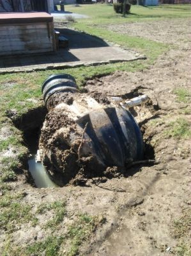
{"label": "flat reddish-brown cover on top of the wooden hot tub", "polygon": [[0,13],[0,24],[51,22],[53,17],[46,12],[4,12]]}

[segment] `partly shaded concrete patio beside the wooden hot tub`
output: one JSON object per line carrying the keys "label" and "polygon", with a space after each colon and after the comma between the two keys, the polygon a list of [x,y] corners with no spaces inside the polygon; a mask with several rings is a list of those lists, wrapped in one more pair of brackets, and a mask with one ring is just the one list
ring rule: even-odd
{"label": "partly shaded concrete patio beside the wooden hot tub", "polygon": [[69,39],[68,48],[59,49],[55,53],[1,56],[0,74],[127,62],[142,58],[137,53],[109,46],[101,38],[86,33],[66,28],[60,29],[60,32]]}

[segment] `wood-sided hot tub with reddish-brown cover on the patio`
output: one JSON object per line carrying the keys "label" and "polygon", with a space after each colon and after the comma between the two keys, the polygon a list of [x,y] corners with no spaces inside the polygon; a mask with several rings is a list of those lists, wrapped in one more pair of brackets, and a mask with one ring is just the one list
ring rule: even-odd
{"label": "wood-sided hot tub with reddish-brown cover on the patio", "polygon": [[0,56],[56,51],[48,13],[0,13]]}

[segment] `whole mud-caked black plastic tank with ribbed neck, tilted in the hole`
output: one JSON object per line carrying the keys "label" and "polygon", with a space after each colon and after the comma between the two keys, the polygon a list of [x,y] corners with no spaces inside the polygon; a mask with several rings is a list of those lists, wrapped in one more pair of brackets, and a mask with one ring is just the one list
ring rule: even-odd
{"label": "whole mud-caked black plastic tank with ribbed neck, tilted in the hole", "polygon": [[124,168],[142,159],[142,134],[130,112],[79,93],[68,74],[50,76],[42,92],[49,113],[40,155],[58,185],[79,176],[104,176],[107,167]]}

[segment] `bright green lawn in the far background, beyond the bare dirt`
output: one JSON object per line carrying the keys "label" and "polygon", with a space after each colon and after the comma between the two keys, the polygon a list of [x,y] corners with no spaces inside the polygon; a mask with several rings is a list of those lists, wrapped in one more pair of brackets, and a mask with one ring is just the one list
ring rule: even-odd
{"label": "bright green lawn in the far background, beyond the bare dirt", "polygon": [[191,7],[178,5],[172,6],[165,4],[164,6],[131,6],[130,15],[122,17],[121,14],[114,13],[113,6],[111,4],[82,4],[80,7],[74,7],[73,5],[67,5],[65,8],[68,12],[75,12],[88,15],[87,19],[83,19],[80,22],[87,22],[89,24],[116,24],[123,22],[135,22],[153,19],[167,19],[167,18],[180,18],[190,17]]}

